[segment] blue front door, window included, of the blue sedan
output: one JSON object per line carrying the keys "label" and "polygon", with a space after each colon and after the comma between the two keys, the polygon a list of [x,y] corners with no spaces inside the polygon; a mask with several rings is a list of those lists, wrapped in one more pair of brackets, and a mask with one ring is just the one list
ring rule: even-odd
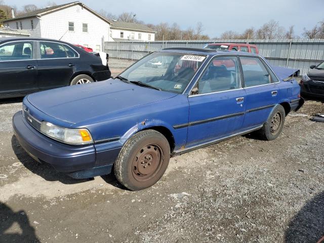
{"label": "blue front door, window included, of the blue sedan", "polygon": [[188,97],[186,147],[239,131],[244,120],[245,99],[237,57],[214,58]]}

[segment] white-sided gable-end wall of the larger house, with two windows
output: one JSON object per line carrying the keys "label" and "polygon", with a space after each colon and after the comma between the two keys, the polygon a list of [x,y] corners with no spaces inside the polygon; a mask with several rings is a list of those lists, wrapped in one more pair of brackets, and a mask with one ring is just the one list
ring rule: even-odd
{"label": "white-sided gable-end wall of the larger house, with two windows", "polygon": [[[102,50],[103,36],[105,42],[110,41],[110,25],[79,5],[44,15],[41,19],[44,38],[60,39],[63,36],[62,41],[87,45],[94,51],[97,46]],[[68,22],[74,22],[74,31],[68,31]],[[83,23],[88,24],[88,32],[83,32]]]}

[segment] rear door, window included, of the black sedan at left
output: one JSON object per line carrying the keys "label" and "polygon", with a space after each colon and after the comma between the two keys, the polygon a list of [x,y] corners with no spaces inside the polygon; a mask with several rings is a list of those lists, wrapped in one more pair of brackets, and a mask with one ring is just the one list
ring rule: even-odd
{"label": "rear door, window included, of the black sedan at left", "polygon": [[68,86],[78,62],[78,53],[56,42],[38,42],[38,87],[41,90]]}

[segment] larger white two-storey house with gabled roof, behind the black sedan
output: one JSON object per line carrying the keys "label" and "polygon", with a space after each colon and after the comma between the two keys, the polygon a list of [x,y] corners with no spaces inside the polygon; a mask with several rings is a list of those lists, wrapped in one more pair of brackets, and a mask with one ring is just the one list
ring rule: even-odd
{"label": "larger white two-storey house with gabled roof, behind the black sedan", "polygon": [[71,44],[102,51],[111,22],[80,2],[73,2],[7,19],[4,25],[27,30],[31,37],[61,39]]}

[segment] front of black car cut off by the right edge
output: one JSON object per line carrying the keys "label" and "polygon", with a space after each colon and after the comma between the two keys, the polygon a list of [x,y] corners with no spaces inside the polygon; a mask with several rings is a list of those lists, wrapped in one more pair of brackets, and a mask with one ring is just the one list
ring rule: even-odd
{"label": "front of black car cut off by the right edge", "polygon": [[301,94],[324,98],[324,62],[310,68],[300,81]]}

